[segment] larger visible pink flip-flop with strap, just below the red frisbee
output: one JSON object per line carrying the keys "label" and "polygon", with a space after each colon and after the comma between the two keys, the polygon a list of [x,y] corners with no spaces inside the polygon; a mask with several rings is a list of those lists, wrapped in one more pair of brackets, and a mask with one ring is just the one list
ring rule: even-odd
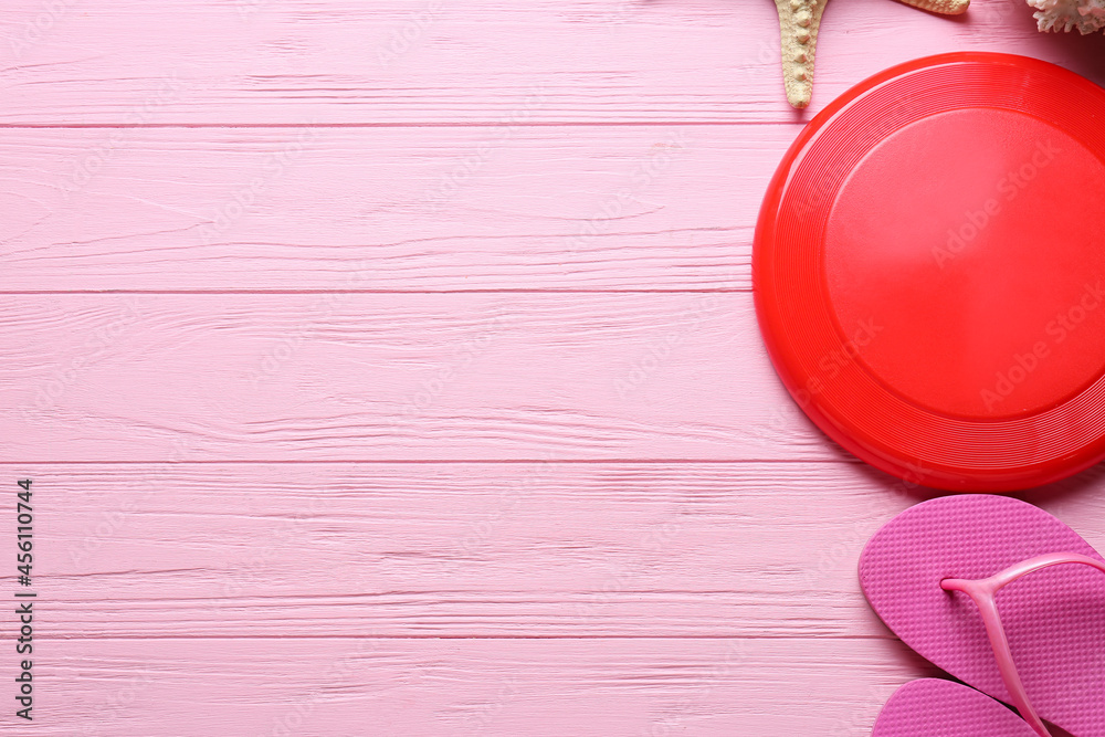
{"label": "larger visible pink flip-flop with strap, just below the red frisbee", "polygon": [[1105,559],[1055,517],[987,494],[923,502],[867,543],[860,582],[905,644],[1036,735],[1045,719],[1105,737]]}

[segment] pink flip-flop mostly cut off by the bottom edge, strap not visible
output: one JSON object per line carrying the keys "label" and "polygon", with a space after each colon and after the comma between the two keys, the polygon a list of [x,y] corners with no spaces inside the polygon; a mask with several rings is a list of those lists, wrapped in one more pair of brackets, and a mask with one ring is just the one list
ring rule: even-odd
{"label": "pink flip-flop mostly cut off by the bottom edge, strap not visible", "polygon": [[891,696],[871,737],[1034,737],[1007,707],[960,683],[922,678]]}

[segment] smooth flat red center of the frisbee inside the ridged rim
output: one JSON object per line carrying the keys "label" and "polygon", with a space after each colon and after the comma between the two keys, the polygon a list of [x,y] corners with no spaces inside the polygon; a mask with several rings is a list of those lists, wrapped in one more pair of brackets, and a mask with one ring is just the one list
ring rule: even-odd
{"label": "smooth flat red center of the frisbee inside the ridged rim", "polygon": [[825,230],[844,349],[957,418],[1025,415],[1084,390],[1105,366],[1103,181],[1077,140],[1009,110],[933,115],[882,140]]}

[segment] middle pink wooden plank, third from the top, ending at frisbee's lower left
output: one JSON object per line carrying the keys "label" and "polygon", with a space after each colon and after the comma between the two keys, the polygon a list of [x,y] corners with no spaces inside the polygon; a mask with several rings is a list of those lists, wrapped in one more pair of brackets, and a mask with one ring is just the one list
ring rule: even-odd
{"label": "middle pink wooden plank, third from the top, ending at frisbee's lower left", "polygon": [[749,293],[0,301],[0,461],[832,460]]}

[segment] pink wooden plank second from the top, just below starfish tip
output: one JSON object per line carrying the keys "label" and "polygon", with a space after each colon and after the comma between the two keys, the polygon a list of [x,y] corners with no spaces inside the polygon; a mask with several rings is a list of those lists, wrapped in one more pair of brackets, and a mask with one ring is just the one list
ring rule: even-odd
{"label": "pink wooden plank second from the top, just below starfish tip", "polygon": [[748,289],[797,131],[0,129],[0,289]]}

